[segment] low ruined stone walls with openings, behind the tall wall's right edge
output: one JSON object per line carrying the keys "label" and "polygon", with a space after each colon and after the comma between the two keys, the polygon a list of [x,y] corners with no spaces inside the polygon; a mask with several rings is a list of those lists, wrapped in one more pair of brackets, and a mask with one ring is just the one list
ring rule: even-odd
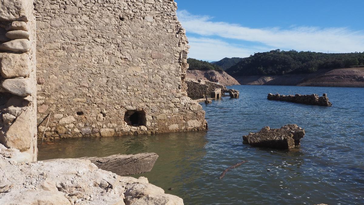
{"label": "low ruined stone walls with openings, behind the tall wall's right edge", "polygon": [[205,80],[186,78],[187,94],[190,98],[204,98],[210,95],[212,98],[220,98],[223,94],[229,93],[230,98],[238,98],[239,91],[227,89],[225,86]]}

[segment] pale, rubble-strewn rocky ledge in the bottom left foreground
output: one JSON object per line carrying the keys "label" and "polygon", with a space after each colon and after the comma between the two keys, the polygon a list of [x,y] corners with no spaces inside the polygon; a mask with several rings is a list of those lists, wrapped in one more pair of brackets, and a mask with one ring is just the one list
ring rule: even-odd
{"label": "pale, rubble-strewn rocky ledge in the bottom left foreground", "polygon": [[183,204],[145,177],[120,177],[90,160],[27,158],[0,144],[0,204]]}

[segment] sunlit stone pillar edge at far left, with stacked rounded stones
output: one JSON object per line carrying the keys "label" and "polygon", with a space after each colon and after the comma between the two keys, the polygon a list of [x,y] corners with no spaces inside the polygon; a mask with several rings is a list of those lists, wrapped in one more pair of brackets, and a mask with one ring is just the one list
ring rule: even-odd
{"label": "sunlit stone pillar edge at far left, with stacked rounded stones", "polygon": [[0,143],[37,159],[35,16],[32,0],[0,4]]}

